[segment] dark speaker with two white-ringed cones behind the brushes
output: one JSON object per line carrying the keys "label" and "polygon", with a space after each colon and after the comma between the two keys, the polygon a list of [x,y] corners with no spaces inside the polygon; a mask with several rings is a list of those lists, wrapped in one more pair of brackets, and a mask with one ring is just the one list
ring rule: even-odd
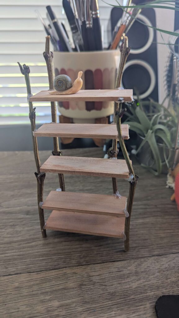
{"label": "dark speaker with two white-ringed cones behind the brushes", "polygon": [[[122,15],[121,8],[118,10],[118,20]],[[117,13],[112,9],[111,30],[117,22]],[[123,11],[123,10],[122,10]],[[125,64],[122,77],[122,86],[126,89],[133,89],[134,99],[137,93],[143,100],[149,97],[158,101],[158,70],[157,70],[157,41],[156,31],[150,26],[156,27],[154,9],[143,9],[127,32],[130,55]],[[149,27],[148,27],[149,26]]]}

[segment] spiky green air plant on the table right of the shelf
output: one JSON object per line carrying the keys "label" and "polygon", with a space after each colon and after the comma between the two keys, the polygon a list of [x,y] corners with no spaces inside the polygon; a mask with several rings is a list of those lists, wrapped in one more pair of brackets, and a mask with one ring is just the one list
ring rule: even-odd
{"label": "spiky green air plant on the table right of the shelf", "polygon": [[[155,169],[145,164],[142,166],[155,175],[159,175],[164,163],[167,163],[168,168],[170,167],[172,150],[175,148],[177,116],[153,100],[141,101],[139,99],[137,103],[134,102],[132,106],[127,105],[127,107],[125,123],[142,138],[135,155],[142,151],[143,146],[148,142],[153,154]],[[164,162],[162,162],[159,146],[162,146]]]}

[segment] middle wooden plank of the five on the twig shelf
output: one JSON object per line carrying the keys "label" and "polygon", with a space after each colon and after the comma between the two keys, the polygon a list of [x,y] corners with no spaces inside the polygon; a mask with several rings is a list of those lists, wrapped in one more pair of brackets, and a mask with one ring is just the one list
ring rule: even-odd
{"label": "middle wooden plank of the five on the twig shelf", "polygon": [[40,167],[40,171],[116,178],[129,176],[125,160],[103,158],[50,156]]}

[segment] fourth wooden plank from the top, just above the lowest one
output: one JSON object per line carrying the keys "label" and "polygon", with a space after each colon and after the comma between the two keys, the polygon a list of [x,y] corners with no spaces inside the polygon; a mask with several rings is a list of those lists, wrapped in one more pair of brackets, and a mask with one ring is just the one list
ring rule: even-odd
{"label": "fourth wooden plank from the top, just above the lowest one", "polygon": [[104,194],[51,191],[43,209],[125,217],[127,198]]}

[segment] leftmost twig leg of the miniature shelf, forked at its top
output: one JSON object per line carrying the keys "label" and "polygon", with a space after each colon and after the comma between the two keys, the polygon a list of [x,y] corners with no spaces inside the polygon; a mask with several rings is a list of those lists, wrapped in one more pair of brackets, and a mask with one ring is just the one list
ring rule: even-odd
{"label": "leftmost twig leg of the miniature shelf, forked at its top", "polygon": [[25,76],[25,83],[27,87],[27,98],[29,103],[29,119],[31,122],[31,132],[32,132],[32,143],[33,143],[33,153],[35,158],[35,163],[37,167],[37,172],[35,172],[35,176],[37,179],[37,200],[38,200],[38,208],[39,208],[39,219],[40,219],[40,227],[42,236],[46,237],[46,230],[44,229],[45,219],[44,219],[44,210],[39,206],[40,202],[43,202],[43,187],[44,187],[44,179],[45,179],[45,172],[40,172],[40,159],[39,159],[39,150],[37,144],[37,137],[33,135],[33,131],[35,130],[35,108],[33,108],[32,102],[29,101],[29,97],[31,94],[31,85],[29,79],[30,68],[25,64],[22,66],[18,63],[20,67],[21,73]]}

